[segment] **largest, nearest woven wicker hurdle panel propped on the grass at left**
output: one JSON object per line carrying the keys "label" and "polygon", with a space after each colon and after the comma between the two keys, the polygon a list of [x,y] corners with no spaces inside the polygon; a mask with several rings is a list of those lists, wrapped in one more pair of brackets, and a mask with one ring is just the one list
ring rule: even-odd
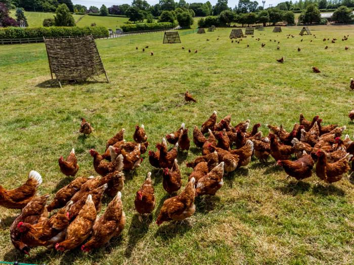
{"label": "largest, nearest woven wicker hurdle panel propped on the grass at left", "polygon": [[107,78],[92,35],[43,39],[46,43],[52,79],[55,74],[60,87],[62,80],[84,80],[101,74],[105,74]]}

